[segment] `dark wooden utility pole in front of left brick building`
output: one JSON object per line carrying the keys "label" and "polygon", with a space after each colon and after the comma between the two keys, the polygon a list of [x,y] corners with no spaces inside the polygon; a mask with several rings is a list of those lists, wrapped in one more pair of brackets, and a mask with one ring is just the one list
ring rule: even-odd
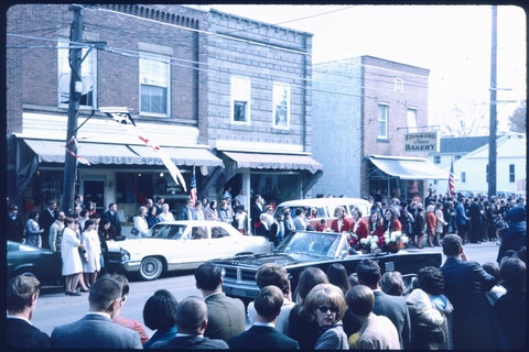
{"label": "dark wooden utility pole in front of left brick building", "polygon": [[[77,118],[79,114],[79,102],[83,91],[83,82],[80,79],[83,48],[77,44],[83,41],[83,7],[80,4],[72,4],[68,9],[74,11],[74,20],[72,22],[72,32],[69,38],[71,48],[68,50],[68,63],[72,69],[72,75],[69,79],[68,127],[66,132],[66,144],[77,134]],[[75,155],[77,155],[77,146],[75,143],[71,143],[68,148]],[[65,151],[62,210],[66,215],[69,215],[73,209],[75,200],[76,176],[77,158],[71,155],[68,151]]]}

